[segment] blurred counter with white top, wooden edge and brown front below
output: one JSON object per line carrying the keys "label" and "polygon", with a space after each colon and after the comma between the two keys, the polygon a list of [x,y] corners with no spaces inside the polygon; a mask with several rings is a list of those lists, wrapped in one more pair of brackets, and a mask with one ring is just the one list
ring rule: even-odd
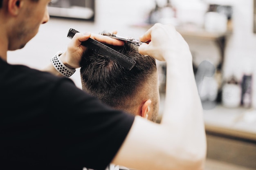
{"label": "blurred counter with white top, wooden edge and brown front below", "polygon": [[256,110],[216,106],[204,110],[207,158],[256,168]]}

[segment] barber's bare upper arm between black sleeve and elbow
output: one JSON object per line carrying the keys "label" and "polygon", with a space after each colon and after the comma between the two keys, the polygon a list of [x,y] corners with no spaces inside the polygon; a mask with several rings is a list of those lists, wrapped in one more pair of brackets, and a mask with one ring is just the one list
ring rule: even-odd
{"label": "barber's bare upper arm between black sleeve and elbow", "polygon": [[112,163],[138,170],[203,170],[205,147],[184,146],[176,130],[137,116]]}

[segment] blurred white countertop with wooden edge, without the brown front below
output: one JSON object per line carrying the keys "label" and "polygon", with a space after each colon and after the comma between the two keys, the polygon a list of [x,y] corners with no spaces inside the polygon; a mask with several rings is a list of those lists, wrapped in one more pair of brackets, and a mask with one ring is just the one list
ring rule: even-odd
{"label": "blurred white countertop with wooden edge, without the brown front below", "polygon": [[208,133],[256,143],[256,109],[217,105],[212,110],[204,110],[204,122]]}

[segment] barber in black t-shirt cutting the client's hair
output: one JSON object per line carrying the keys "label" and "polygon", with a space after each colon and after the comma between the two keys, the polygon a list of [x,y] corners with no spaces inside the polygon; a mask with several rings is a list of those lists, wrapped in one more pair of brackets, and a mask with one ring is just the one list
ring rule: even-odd
{"label": "barber in black t-shirt cutting the client's hair", "polygon": [[[110,162],[140,170],[203,169],[202,106],[189,46],[175,28],[155,24],[140,38],[151,42],[139,52],[167,65],[164,115],[155,124],[101,104],[52,63],[43,71],[8,63],[7,51],[24,47],[49,20],[49,2],[0,0],[1,169],[104,170]],[[90,37],[123,44],[76,33],[67,51],[53,57],[72,74],[86,50],[81,42]]]}

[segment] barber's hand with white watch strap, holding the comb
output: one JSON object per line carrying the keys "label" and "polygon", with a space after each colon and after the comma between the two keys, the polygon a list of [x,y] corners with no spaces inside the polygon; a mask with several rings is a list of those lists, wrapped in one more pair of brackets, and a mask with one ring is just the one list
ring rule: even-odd
{"label": "barber's hand with white watch strap, holding the comb", "polygon": [[[115,32],[116,33],[116,32]],[[83,53],[86,51],[86,47],[81,45],[83,41],[92,38],[104,44],[110,44],[115,46],[122,46],[124,42],[110,38],[108,36],[92,33],[76,33],[71,42],[67,46],[67,51],[63,53],[61,61],[69,68],[79,68]]]}

